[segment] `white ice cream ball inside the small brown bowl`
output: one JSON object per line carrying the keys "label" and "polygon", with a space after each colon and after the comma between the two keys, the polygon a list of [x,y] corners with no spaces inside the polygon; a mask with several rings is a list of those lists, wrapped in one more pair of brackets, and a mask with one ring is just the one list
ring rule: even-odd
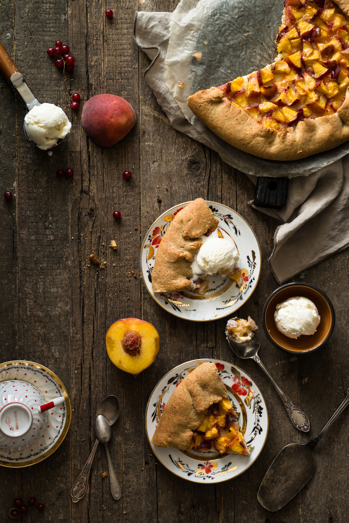
{"label": "white ice cream ball inside the small brown bowl", "polygon": [[316,332],[320,316],[316,305],[303,296],[294,296],[278,303],[274,313],[276,327],[289,338]]}

